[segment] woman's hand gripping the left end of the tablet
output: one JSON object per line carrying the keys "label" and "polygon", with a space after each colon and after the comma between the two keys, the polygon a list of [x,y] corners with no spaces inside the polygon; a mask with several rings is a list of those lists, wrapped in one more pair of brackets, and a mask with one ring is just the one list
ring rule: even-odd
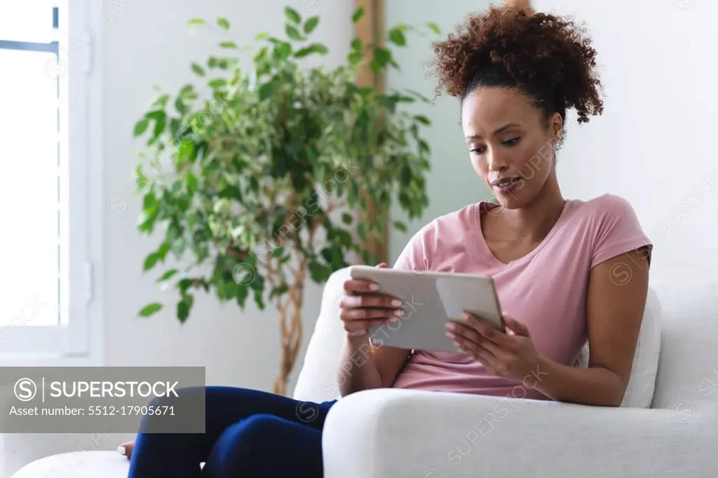
{"label": "woman's hand gripping the left end of the tablet", "polygon": [[[387,267],[381,263],[377,267]],[[360,279],[344,282],[344,296],[339,301],[339,317],[350,337],[369,334],[370,327],[379,327],[399,317],[401,301],[376,291],[376,283]]]}

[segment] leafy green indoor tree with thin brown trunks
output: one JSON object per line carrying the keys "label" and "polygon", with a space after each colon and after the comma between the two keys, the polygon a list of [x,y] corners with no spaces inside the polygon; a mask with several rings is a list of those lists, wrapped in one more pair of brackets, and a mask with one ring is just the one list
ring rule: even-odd
{"label": "leafy green indoor tree with thin brown trunks", "polygon": [[[310,39],[320,19],[284,13],[286,37],[258,35],[250,66],[239,60],[247,49],[221,42],[223,55],[191,64],[197,82],[174,95],[159,90],[134,127],[145,141],[141,156],[153,158],[136,168],[139,231],[163,238],[144,271],[161,269],[158,282],[179,291],[180,322],[197,291],[241,309],[249,296],[259,309],[274,304],[280,394],[302,343],[307,280],[324,283],[351,261],[374,263],[366,241],[389,227],[395,198],[409,218],[421,215],[430,153],[421,136],[429,120],[401,108],[427,98],[356,83],[360,68],[398,68],[390,48],[355,38],[341,65],[309,67],[307,59],[328,52]],[[358,9],[354,21],[362,15]],[[224,17],[216,25],[230,29]],[[390,29],[388,42],[403,46],[411,30]],[[170,253],[182,266],[166,262]],[[162,307],[148,304],[139,317]]]}

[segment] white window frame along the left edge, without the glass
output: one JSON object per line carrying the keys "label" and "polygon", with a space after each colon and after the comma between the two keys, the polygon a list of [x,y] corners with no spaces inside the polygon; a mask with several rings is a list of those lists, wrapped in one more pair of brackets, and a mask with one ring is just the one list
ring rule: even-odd
{"label": "white window frame along the left edge, without the glass", "polygon": [[102,277],[102,83],[93,64],[102,40],[95,35],[90,42],[75,41],[88,38],[91,19],[100,11],[99,0],[58,0],[59,41],[0,42],[13,50],[57,52],[55,65],[48,62],[45,73],[51,66],[58,78],[65,173],[60,202],[66,207],[60,215],[60,323],[0,327],[0,366],[103,365],[102,290],[96,280]]}

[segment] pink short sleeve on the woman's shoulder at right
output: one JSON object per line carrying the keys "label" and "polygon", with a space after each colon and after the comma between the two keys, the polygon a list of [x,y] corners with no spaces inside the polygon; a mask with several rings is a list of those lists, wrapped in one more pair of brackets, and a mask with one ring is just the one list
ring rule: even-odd
{"label": "pink short sleeve on the woman's shoulder at right", "polygon": [[632,250],[644,250],[650,263],[653,244],[643,233],[630,203],[615,195],[599,199],[593,216],[596,224],[591,268]]}

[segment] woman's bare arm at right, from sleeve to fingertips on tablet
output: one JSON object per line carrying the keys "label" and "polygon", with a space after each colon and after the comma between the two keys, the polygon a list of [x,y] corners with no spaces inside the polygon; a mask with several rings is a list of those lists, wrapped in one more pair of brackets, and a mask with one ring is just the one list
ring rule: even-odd
{"label": "woman's bare arm at right, from sleeve to fingertips on tablet", "polygon": [[528,327],[504,316],[509,334],[471,314],[447,324],[447,335],[494,375],[518,380],[561,402],[620,406],[648,295],[648,259],[633,251],[604,261],[589,276],[589,367],[556,363],[536,351]]}

